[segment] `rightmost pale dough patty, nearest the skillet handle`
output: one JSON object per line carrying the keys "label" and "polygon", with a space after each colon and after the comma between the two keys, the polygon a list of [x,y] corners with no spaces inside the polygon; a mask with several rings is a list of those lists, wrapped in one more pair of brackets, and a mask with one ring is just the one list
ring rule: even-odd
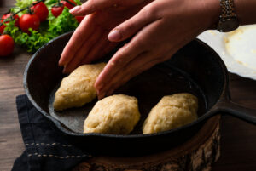
{"label": "rightmost pale dough patty, nearest the skillet handle", "polygon": [[143,124],[143,134],[158,133],[191,123],[197,118],[198,100],[192,94],[164,96]]}

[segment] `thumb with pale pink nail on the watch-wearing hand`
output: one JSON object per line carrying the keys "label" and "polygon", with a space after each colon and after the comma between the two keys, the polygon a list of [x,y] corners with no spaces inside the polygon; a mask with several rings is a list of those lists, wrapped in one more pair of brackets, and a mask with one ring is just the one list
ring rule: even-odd
{"label": "thumb with pale pink nail on the watch-wearing hand", "polygon": [[149,8],[143,8],[139,13],[131,17],[131,19],[126,20],[119,26],[116,26],[109,34],[108,40],[112,42],[120,42],[128,37],[136,34],[144,26],[155,20],[160,20],[156,15],[151,14]]}

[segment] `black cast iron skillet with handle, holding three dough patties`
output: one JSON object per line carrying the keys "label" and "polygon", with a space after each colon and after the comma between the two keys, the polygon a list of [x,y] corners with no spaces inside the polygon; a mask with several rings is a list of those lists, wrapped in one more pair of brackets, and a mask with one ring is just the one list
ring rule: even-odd
{"label": "black cast iron skillet with handle, holding three dough patties", "polygon": [[[138,99],[142,117],[131,134],[74,132],[72,128],[68,128],[68,125],[52,117],[49,112],[50,94],[53,94],[61,78],[64,77],[61,73],[62,68],[57,65],[58,60],[71,35],[72,32],[69,32],[55,38],[32,56],[24,73],[24,88],[32,105],[53,123],[54,128],[59,129],[68,140],[86,151],[112,155],[140,155],[166,150],[188,140],[209,117],[217,113],[230,114],[248,123],[256,124],[256,110],[247,109],[230,101],[228,72],[218,54],[205,43],[194,40],[173,55],[171,60],[143,72],[115,92],[115,94],[133,95]],[[107,58],[113,53],[108,54]],[[157,134],[142,134],[141,127],[150,109],[162,96],[180,92],[189,92],[199,98],[199,118],[180,128]],[[81,108],[84,110],[84,117],[87,116],[93,103]],[[69,111],[76,117],[79,109]],[[71,119],[69,123],[72,122]]]}

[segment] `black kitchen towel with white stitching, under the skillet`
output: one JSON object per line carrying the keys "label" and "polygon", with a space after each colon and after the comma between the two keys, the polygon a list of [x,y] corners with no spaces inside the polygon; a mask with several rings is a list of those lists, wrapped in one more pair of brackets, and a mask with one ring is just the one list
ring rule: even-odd
{"label": "black kitchen towel with white stitching, under the skillet", "polygon": [[91,157],[53,128],[26,95],[17,96],[16,104],[26,150],[15,160],[12,171],[70,170]]}

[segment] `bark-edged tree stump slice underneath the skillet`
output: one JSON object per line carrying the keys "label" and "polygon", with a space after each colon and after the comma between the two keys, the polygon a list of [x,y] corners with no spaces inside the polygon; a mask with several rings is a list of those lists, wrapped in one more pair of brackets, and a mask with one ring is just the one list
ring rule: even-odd
{"label": "bark-edged tree stump slice underneath the skillet", "polygon": [[168,151],[143,157],[98,156],[73,171],[210,171],[220,156],[220,116],[209,119],[190,140]]}

